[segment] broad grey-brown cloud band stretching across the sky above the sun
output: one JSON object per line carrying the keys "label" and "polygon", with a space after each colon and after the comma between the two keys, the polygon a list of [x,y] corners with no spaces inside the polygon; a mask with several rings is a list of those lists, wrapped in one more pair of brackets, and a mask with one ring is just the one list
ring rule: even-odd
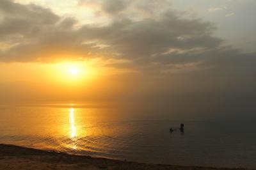
{"label": "broad grey-brown cloud band stretching across the sky above the sun", "polygon": [[[119,6],[119,10],[112,10],[115,13],[125,10],[123,4],[108,2],[109,9]],[[185,19],[169,8],[157,13],[157,17],[140,20],[122,17],[105,26],[77,27],[77,20],[60,17],[42,6],[6,0],[0,4],[1,61],[120,59],[129,62],[108,65],[155,73],[205,69],[213,73],[216,70],[212,68],[218,66],[239,70],[242,63],[244,69],[255,62],[254,54],[241,54],[223,46],[223,40],[213,35],[216,29],[213,24]],[[153,1],[140,4],[144,10],[151,5],[157,6]]]}

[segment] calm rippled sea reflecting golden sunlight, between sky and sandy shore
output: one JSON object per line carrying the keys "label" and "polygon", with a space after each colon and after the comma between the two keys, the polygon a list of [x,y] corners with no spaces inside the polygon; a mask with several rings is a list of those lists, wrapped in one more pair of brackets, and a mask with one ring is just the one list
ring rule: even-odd
{"label": "calm rippled sea reflecting golden sunlight, between sky and sandy shore", "polygon": [[[193,117],[193,116],[190,116]],[[184,123],[184,133],[170,127]],[[156,164],[256,168],[253,121],[100,105],[0,107],[0,143]]]}

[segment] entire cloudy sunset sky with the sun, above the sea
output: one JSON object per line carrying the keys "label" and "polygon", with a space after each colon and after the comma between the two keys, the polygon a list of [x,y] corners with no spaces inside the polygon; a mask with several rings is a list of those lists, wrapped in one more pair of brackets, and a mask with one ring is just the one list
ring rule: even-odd
{"label": "entire cloudy sunset sky with the sun, above the sea", "polygon": [[254,0],[1,0],[0,102],[254,112]]}

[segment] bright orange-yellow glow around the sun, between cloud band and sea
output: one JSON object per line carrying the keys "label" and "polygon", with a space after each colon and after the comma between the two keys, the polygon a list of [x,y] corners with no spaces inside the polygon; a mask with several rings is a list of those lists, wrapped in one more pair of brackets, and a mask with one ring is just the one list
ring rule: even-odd
{"label": "bright orange-yellow glow around the sun, between cloud band and sea", "polygon": [[119,95],[128,85],[116,78],[125,77],[129,70],[105,65],[108,63],[101,60],[0,63],[0,84],[6,84],[0,89],[0,96],[4,102],[75,102]]}

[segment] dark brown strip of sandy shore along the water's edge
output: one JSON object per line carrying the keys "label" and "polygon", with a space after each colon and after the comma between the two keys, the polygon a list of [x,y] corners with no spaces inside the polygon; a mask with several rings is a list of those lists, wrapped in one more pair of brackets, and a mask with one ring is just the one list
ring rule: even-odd
{"label": "dark brown strip of sandy shore along the water's edge", "polygon": [[[231,169],[143,164],[0,144],[0,169]],[[237,168],[242,169],[242,168]]]}

